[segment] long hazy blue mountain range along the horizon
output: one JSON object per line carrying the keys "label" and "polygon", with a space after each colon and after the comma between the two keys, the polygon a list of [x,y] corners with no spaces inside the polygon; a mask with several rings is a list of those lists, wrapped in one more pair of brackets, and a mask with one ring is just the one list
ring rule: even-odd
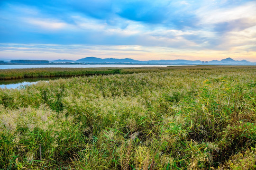
{"label": "long hazy blue mountain range along the horizon", "polygon": [[219,60],[211,60],[208,63],[204,63],[200,60],[186,60],[186,59],[174,59],[174,60],[147,60],[140,61],[135,59],[101,59],[97,57],[85,57],[83,59],[78,60],[69,60],[69,59],[57,59],[52,62],[75,62],[75,63],[128,63],[128,64],[172,64],[172,65],[199,65],[199,64],[208,64],[208,65],[256,65],[254,62],[247,61],[245,59],[238,61],[231,58],[221,59]]}

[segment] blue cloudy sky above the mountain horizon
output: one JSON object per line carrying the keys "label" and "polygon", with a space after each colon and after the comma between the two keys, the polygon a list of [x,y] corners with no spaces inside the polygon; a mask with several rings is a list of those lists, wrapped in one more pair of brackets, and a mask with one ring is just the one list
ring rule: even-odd
{"label": "blue cloudy sky above the mountain horizon", "polygon": [[256,0],[0,0],[0,59],[256,62]]}

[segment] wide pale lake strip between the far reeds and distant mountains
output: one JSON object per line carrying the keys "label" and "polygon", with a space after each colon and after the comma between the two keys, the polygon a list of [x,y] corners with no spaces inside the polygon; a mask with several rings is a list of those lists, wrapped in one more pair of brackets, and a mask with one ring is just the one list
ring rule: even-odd
{"label": "wide pale lake strip between the far reeds and distant mountains", "polygon": [[[48,65],[0,65],[0,69],[13,68],[133,68],[133,67],[167,67],[170,65],[141,64],[48,64]],[[177,66],[177,65],[175,65]]]}

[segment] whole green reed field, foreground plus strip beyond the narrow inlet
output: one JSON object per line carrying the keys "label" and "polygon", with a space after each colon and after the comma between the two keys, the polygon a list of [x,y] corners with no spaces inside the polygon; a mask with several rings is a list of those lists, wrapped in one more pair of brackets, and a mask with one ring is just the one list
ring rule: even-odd
{"label": "whole green reed field, foreground plus strip beyond the narrow inlet", "polygon": [[0,169],[256,169],[256,67],[61,69],[0,70],[101,74],[0,89]]}

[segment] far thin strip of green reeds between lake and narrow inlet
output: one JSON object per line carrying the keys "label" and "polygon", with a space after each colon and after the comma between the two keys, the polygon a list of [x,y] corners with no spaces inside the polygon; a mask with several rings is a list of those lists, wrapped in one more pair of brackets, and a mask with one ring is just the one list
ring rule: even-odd
{"label": "far thin strip of green reeds between lake and narrow inlet", "polygon": [[[235,66],[168,66],[168,67],[143,67],[143,68],[23,68],[23,69],[0,69],[0,80],[41,78],[41,77],[69,77],[69,76],[93,76],[110,74],[132,74],[159,72],[171,69],[212,69],[212,68],[235,68]],[[240,66],[239,68],[250,68]]]}

